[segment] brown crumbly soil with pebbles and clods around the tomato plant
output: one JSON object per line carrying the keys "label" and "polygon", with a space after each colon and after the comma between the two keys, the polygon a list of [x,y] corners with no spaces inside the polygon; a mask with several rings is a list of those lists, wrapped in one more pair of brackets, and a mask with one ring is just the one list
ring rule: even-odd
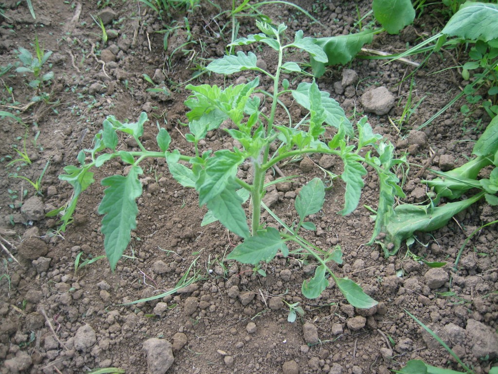
{"label": "brown crumbly soil with pebbles and clods around the tomato plant", "polygon": [[[341,246],[344,265],[336,271],[362,285],[379,302],[367,313],[348,305],[333,283],[318,299],[303,298],[300,287],[303,279],[313,274],[312,262],[276,258],[262,277],[253,274],[250,266],[224,260],[240,239],[218,223],[201,226],[205,208],[198,207],[195,191],[178,185],[163,162],[142,165],[144,193],[138,199],[140,213],[126,252],[129,257],[120,261],[114,274],[105,259],[75,274],[79,252],[84,252],[82,259],[104,254],[97,213],[103,195],[100,183],[84,193],[74,223],[63,234],[53,235],[57,229],[54,218],[38,214],[26,219],[26,209],[36,213],[40,205],[48,212],[67,202],[72,190],[57,177],[65,166],[76,163],[80,150],[91,147],[93,134],[108,115],[135,121],[146,111],[150,121],[143,137],[145,146],[154,147],[158,121],[169,130],[172,146],[189,154],[191,145],[183,137],[185,128],[179,125],[186,122],[183,102],[188,90],[184,82],[192,78],[199,64],[223,55],[231,24],[226,16],[214,18],[220,10],[204,1],[193,14],[165,15],[168,21],[161,21],[144,3],[132,0],[49,0],[33,1],[33,5],[36,20],[24,1],[5,1],[4,16],[0,16],[0,65],[18,61],[18,47],[33,51],[30,43],[37,35],[40,45],[54,52],[49,62],[55,74],[48,88],[49,101],[29,108],[22,108],[34,93],[27,85],[28,77],[14,73],[13,68],[1,76],[1,110],[15,113],[29,126],[25,129],[9,119],[1,122],[0,229],[6,240],[2,243],[19,263],[1,251],[0,362],[4,365],[0,365],[0,373],[70,374],[99,367],[146,373],[142,345],[149,338],[173,344],[175,359],[168,373],[385,374],[415,358],[461,370],[406,311],[435,331],[475,373],[487,373],[496,365],[498,236],[494,226],[472,238],[457,272],[452,267],[466,235],[497,219],[497,210],[481,202],[444,228],[417,235],[412,252],[428,261],[447,262],[442,271],[450,277],[435,288],[433,282],[441,273],[428,272],[427,266],[406,257],[406,249],[386,259],[380,248],[364,244],[373,229],[370,212],[362,205],[374,207],[377,184],[372,177],[365,180],[359,208],[347,217],[336,214],[343,202],[343,187],[328,191],[323,212],[311,217],[319,230],[307,238],[318,246]],[[299,5],[327,27],[312,24],[291,8],[263,9],[275,22],[286,22],[291,30],[302,28],[305,35],[339,35],[354,29],[357,13],[353,2],[337,6],[300,1]],[[367,1],[360,5],[365,14]],[[106,29],[111,36],[110,30],[116,30],[117,35],[103,46],[100,27],[91,15],[97,16],[108,6],[116,14]],[[223,4],[222,9],[227,6]],[[188,16],[195,43],[182,46],[189,35],[176,30],[164,52],[163,34],[157,31],[183,16]],[[371,47],[386,52],[403,50],[439,29],[437,17],[442,17],[439,9],[426,8],[413,27],[401,35],[377,35]],[[254,32],[253,18],[240,21],[239,35]],[[266,54],[265,48],[256,53],[271,67],[272,55]],[[406,202],[426,198],[420,180],[429,173],[419,173],[419,166],[437,168],[441,159],[463,164],[471,156],[472,141],[489,123],[480,110],[464,117],[459,111],[462,101],[421,130],[427,137],[425,143],[407,137],[465,85],[456,69],[444,70],[457,65],[460,58],[465,56],[441,51],[415,74],[412,100],[425,98],[402,127],[393,126],[390,120],[396,121],[402,114],[410,82],[400,82],[413,67],[358,58],[348,68],[358,73],[359,81],[344,92],[334,85],[342,79],[341,68],[329,69],[318,81],[356,120],[363,114],[360,97],[369,87],[385,86],[396,96],[388,115],[369,114],[369,122],[375,132],[396,144],[399,155],[407,153],[412,167],[404,185]],[[156,69],[165,75],[169,95],[147,91],[151,85],[143,74],[153,77]],[[192,80],[193,84],[199,82],[225,84],[214,74]],[[268,82],[261,79],[261,83]],[[291,113],[299,114],[290,100],[289,105]],[[11,158],[17,158],[13,146],[22,148],[25,134],[32,164],[16,162],[7,167]],[[123,141],[123,147],[133,146]],[[232,146],[223,132],[209,134],[204,145],[206,149]],[[17,173],[36,180],[48,160],[42,195],[26,181],[9,178]],[[312,160],[319,163],[320,159]],[[106,165],[96,173],[96,180],[123,169],[118,162]],[[296,190],[315,176],[323,176],[316,167],[303,169],[298,163],[285,166],[283,173],[299,177],[284,188],[277,186],[278,200],[273,207],[289,223],[295,215]],[[262,219],[272,223],[267,215]],[[172,289],[194,260],[202,279],[159,300],[122,305]],[[449,291],[454,296],[444,294]],[[299,302],[304,316],[287,322],[288,311],[281,299]],[[487,344],[492,346],[491,354],[483,357]]]}

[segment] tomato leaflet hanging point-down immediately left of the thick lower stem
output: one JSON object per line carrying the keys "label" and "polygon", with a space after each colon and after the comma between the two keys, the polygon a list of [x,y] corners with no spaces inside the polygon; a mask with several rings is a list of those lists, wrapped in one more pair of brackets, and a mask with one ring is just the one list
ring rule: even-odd
{"label": "tomato leaflet hanging point-down immediately left of the thick lower stem", "polygon": [[249,226],[242,203],[243,200],[235,189],[227,187],[218,192],[206,205],[226,228],[243,238],[249,238]]}

